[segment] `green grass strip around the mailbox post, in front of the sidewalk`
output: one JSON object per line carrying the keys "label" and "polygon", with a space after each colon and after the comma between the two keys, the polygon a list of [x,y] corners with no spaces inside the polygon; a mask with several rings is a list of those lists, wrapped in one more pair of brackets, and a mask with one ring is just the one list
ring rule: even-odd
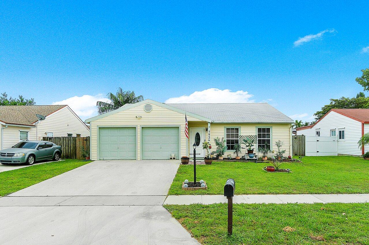
{"label": "green grass strip around the mailbox post, in front of the sidewalk", "polygon": [[201,244],[369,244],[369,203],[237,204],[231,236],[225,204],[165,208]]}

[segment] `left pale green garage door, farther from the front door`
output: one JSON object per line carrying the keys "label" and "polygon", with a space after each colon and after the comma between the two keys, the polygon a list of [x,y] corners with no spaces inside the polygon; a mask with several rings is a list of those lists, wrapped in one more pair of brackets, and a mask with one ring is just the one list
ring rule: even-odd
{"label": "left pale green garage door, farther from the front door", "polygon": [[135,160],[136,128],[100,128],[99,147],[101,160]]}

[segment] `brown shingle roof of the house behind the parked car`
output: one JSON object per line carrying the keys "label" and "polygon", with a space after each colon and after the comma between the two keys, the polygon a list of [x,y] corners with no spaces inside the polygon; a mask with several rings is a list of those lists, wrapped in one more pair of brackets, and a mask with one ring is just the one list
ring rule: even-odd
{"label": "brown shingle roof of the house behind the parked car", "polygon": [[7,124],[34,126],[33,123],[38,120],[36,114],[48,116],[65,106],[0,106],[0,121]]}

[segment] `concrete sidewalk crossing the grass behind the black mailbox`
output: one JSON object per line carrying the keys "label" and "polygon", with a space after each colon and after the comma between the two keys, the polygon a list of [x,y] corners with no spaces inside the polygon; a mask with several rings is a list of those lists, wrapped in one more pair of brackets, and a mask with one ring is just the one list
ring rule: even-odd
{"label": "concrete sidewalk crossing the grass behind the black mailbox", "polygon": [[[189,205],[192,203],[225,203],[223,195],[183,195],[168,196],[166,204]],[[369,194],[290,194],[290,195],[236,195],[234,203],[364,203],[369,202]]]}

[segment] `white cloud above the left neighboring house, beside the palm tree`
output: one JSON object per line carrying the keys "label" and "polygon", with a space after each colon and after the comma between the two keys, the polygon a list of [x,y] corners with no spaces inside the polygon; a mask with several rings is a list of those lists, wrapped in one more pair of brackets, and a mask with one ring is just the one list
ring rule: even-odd
{"label": "white cloud above the left neighboring house, beside the palm tree", "polygon": [[74,96],[52,104],[67,104],[82,120],[97,115],[96,102],[110,102],[102,94]]}

